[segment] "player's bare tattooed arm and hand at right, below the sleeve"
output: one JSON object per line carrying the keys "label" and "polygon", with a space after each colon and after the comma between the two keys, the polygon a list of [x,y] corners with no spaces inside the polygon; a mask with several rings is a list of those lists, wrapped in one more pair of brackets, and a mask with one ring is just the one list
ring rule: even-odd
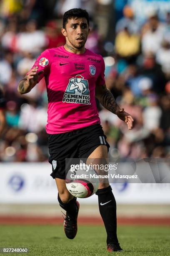
{"label": "player's bare tattooed arm and hand at right, below the sleeve", "polygon": [[103,107],[117,115],[118,118],[123,120],[128,125],[128,129],[133,128],[133,117],[124,111],[124,108],[120,108],[110,90],[107,89],[106,84],[96,85],[95,96],[100,101]]}

